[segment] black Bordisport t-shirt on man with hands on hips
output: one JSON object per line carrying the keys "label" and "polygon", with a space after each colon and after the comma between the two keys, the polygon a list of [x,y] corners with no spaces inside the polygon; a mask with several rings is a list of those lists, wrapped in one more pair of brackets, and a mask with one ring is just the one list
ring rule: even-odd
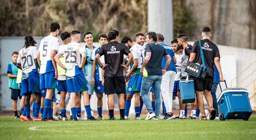
{"label": "black Bordisport t-shirt on man with hands on hips", "polygon": [[98,51],[99,55],[104,55],[105,59],[105,72],[104,76],[118,77],[124,76],[124,67],[121,66],[124,61],[124,54],[128,55],[131,51],[123,43],[117,41],[108,42],[103,44]]}

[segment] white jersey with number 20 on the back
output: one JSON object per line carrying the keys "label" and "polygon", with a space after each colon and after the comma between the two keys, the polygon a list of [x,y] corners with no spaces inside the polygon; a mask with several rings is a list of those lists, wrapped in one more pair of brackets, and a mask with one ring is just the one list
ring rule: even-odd
{"label": "white jersey with number 20 on the back", "polygon": [[35,60],[37,58],[37,48],[35,46],[29,46],[23,48],[19,52],[17,63],[21,64],[22,70],[25,74],[31,71],[37,71]]}

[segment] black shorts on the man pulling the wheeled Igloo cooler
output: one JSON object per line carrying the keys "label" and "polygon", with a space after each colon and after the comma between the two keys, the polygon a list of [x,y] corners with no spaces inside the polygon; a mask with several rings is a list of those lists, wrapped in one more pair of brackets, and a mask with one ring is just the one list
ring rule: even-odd
{"label": "black shorts on the man pulling the wheeled Igloo cooler", "polygon": [[194,86],[196,91],[204,91],[212,89],[213,85],[213,76],[206,75],[204,79],[199,77],[193,77]]}

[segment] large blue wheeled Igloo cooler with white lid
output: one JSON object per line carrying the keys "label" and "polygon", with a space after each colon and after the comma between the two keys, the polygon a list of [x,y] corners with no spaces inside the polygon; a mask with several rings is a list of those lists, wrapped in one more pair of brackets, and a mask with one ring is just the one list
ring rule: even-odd
{"label": "large blue wheeled Igloo cooler with white lid", "polygon": [[[225,84],[226,81],[224,80]],[[220,86],[221,88],[221,86]],[[220,107],[220,121],[225,119],[243,119],[248,120],[253,110],[248,97],[248,91],[245,88],[228,88],[221,90],[217,99]]]}

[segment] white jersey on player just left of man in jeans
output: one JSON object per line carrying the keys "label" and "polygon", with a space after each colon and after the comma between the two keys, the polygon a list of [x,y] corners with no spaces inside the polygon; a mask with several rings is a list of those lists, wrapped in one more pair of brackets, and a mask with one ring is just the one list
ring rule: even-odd
{"label": "white jersey on player just left of man in jeans", "polygon": [[[138,59],[138,67],[137,69],[133,72],[133,75],[136,74],[140,74],[140,69],[141,66],[143,64],[144,58],[145,58],[145,49],[143,48],[143,46],[139,45],[139,44],[134,44],[131,49],[130,49],[132,55],[133,55],[133,60],[134,59]],[[133,65],[133,61],[131,62],[131,64]]]}

